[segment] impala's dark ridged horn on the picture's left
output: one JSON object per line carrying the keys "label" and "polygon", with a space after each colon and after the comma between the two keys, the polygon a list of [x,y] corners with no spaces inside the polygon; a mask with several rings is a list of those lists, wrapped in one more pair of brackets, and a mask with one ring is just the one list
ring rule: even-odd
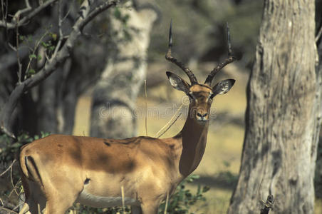
{"label": "impala's dark ridged horn on the picture's left", "polygon": [[184,63],[178,61],[177,58],[174,58],[173,56],[171,56],[171,47],[172,47],[172,20],[170,22],[169,46],[168,46],[168,49],[167,49],[167,54],[165,54],[165,59],[167,59],[167,61],[175,63],[183,71],[185,71],[185,73],[187,73],[187,76],[189,77],[190,82],[191,82],[192,85],[197,84],[198,83],[197,78],[196,78],[196,76],[194,76],[192,71],[189,68],[187,68]]}

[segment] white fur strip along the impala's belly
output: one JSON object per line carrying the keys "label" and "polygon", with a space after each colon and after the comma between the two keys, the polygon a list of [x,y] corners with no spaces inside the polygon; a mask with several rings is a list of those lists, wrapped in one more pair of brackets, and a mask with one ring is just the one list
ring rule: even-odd
{"label": "white fur strip along the impala's belly", "polygon": [[[125,205],[140,205],[140,203],[133,198],[124,198]],[[83,205],[89,205],[95,208],[109,208],[122,205],[122,197],[105,197],[100,195],[92,195],[83,190],[78,195],[77,202]]]}

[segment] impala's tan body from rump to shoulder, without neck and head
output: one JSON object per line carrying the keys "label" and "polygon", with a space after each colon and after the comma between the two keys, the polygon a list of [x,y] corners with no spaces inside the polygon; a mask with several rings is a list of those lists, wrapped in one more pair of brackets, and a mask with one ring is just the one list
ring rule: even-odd
{"label": "impala's tan body from rump to shoulder, without neck and head", "polygon": [[126,205],[139,206],[140,192],[147,189],[151,193],[160,192],[170,185],[163,180],[174,179],[171,173],[176,168],[171,156],[174,148],[166,141],[62,135],[33,141],[21,148],[19,160],[26,198],[36,200],[41,209],[47,195],[55,195],[55,200],[63,201],[68,208],[74,201],[104,208],[122,205],[123,187]]}

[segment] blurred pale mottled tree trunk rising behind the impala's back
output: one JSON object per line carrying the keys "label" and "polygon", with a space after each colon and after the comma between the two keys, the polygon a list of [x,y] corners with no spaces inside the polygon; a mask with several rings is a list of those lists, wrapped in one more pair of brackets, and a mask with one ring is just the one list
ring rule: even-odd
{"label": "blurred pale mottled tree trunk rising behind the impala's back", "polygon": [[[131,2],[128,1],[127,6]],[[101,138],[127,138],[136,135],[135,101],[146,76],[147,48],[152,24],[157,19],[153,9],[120,9],[128,16],[130,41],[122,41],[122,23],[110,17],[113,36],[113,54],[100,81],[95,86],[91,113],[90,136]]]}

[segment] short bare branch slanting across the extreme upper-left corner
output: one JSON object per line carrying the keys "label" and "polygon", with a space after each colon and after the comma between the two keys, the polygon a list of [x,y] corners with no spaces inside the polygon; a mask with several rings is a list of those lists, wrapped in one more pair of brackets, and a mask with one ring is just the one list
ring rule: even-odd
{"label": "short bare branch slanting across the extreme upper-left corner", "polygon": [[34,16],[36,16],[40,11],[45,9],[48,5],[53,4],[55,1],[58,1],[58,0],[48,0],[45,3],[40,4],[36,9],[31,11],[29,14],[24,16],[23,19],[20,19],[16,23],[15,22],[7,23],[6,20],[2,20],[2,21],[0,21],[0,27],[6,27],[6,29],[14,29],[16,27],[16,25],[18,25],[18,27],[24,26],[24,25],[28,24],[28,21],[30,21]]}

